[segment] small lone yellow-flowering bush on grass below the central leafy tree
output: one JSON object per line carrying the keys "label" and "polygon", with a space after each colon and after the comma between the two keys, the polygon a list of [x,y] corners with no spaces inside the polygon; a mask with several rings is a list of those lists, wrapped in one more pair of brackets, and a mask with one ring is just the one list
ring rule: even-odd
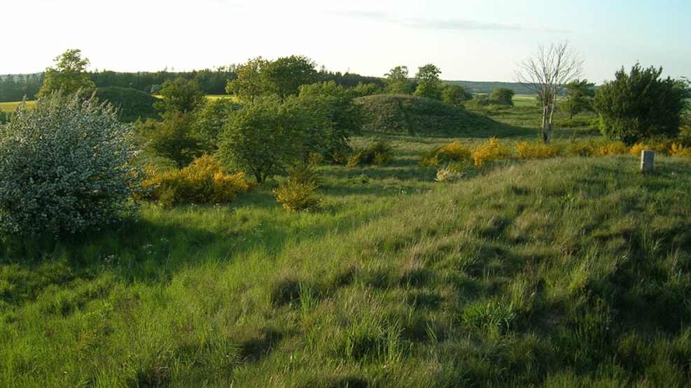
{"label": "small lone yellow-flowering bush on grass below the central leafy tree", "polygon": [[312,164],[298,164],[288,176],[288,180],[274,189],[274,198],[286,210],[314,210],[319,208],[321,199],[314,195],[319,187],[319,172]]}

